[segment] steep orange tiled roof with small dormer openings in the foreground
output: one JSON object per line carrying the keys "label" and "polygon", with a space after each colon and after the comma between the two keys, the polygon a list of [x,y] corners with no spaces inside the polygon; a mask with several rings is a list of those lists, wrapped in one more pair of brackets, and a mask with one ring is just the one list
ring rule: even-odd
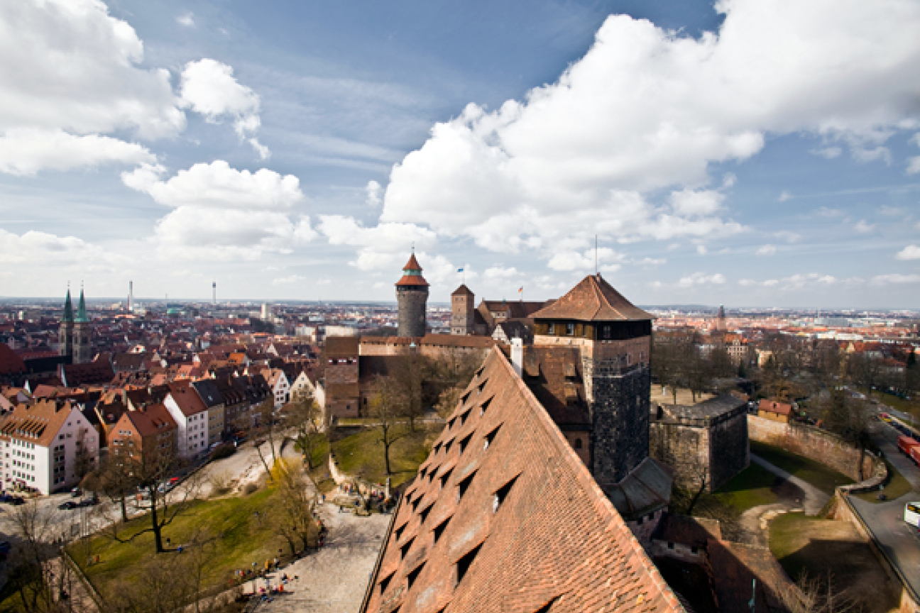
{"label": "steep orange tiled roof with small dormer openings in the foreground", "polygon": [[683,611],[493,350],[408,487],[362,611]]}

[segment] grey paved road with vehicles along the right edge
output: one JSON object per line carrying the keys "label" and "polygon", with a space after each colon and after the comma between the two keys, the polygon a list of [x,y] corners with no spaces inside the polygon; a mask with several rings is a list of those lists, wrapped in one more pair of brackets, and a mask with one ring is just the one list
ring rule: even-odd
{"label": "grey paved road with vehicles along the right edge", "polygon": [[880,548],[901,570],[907,582],[920,595],[920,535],[916,528],[903,521],[904,505],[920,501],[920,469],[914,462],[905,458],[897,448],[898,432],[884,423],[874,424],[871,428],[872,440],[879,446],[885,457],[903,474],[914,487],[914,491],[904,494],[897,500],[885,503],[869,503],[850,496],[850,502],[859,517],[872,530]]}

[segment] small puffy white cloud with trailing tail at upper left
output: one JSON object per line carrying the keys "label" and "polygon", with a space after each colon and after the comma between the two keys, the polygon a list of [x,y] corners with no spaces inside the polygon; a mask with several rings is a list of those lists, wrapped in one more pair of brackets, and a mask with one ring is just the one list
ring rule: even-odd
{"label": "small puffy white cloud with trailing tail at upper left", "polygon": [[[208,121],[218,123],[224,118],[233,119],[240,139],[247,139],[259,130],[259,95],[236,81],[233,68],[225,63],[210,58],[187,63],[182,69],[179,95],[184,106]],[[268,148],[254,137],[247,141],[263,160],[269,156]]]}

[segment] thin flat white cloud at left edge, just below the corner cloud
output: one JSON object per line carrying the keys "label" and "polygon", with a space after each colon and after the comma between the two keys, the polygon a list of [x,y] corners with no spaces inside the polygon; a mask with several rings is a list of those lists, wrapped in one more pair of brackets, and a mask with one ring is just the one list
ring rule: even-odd
{"label": "thin flat white cloud at left edge, just below the corner cloud", "polygon": [[0,172],[32,176],[40,170],[72,170],[108,164],[154,164],[145,147],[108,136],[20,129],[0,136]]}

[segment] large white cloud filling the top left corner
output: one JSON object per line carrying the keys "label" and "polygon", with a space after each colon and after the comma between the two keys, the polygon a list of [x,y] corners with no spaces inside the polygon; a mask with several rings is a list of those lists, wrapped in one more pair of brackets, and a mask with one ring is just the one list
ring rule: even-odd
{"label": "large white cloud filling the top left corner", "polygon": [[174,136],[185,116],[162,69],[99,0],[0,3],[0,133],[133,131]]}

